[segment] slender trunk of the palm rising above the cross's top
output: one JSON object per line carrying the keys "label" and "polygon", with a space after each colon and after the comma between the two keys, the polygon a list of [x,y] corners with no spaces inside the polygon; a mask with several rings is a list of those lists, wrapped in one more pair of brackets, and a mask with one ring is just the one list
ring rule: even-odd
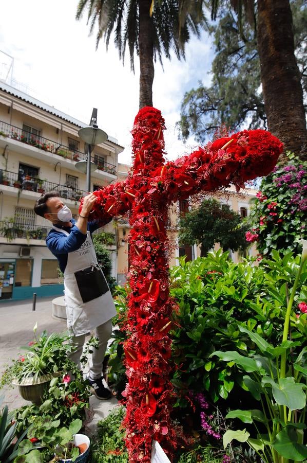
{"label": "slender trunk of the palm rising above the cross's top", "polygon": [[151,0],[139,0],[140,109],[152,106],[154,82],[154,23],[150,17]]}

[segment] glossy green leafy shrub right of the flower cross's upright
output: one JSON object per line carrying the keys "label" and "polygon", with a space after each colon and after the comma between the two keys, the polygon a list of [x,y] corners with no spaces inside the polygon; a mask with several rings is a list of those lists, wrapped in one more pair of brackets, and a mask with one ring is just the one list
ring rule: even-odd
{"label": "glossy green leafy shrub right of the flower cross's upright", "polygon": [[[227,399],[235,383],[242,383],[243,373],[236,366],[210,358],[215,350],[257,353],[257,346],[240,326],[280,344],[288,287],[294,283],[299,262],[300,256],[290,253],[281,259],[275,252],[272,261],[262,260],[259,266],[247,260],[234,263],[228,260],[228,253],[219,250],[193,262],[181,259],[179,266],[170,269],[171,295],[179,304],[175,317],[178,328],[172,332],[177,365],[172,382],[178,390],[177,405],[187,405],[180,395],[188,390],[206,391],[207,397],[217,402],[220,397]],[[296,308],[307,296],[305,279],[304,273]],[[307,334],[304,317],[291,319],[292,337],[302,343]],[[244,391],[237,390],[241,400]]]}

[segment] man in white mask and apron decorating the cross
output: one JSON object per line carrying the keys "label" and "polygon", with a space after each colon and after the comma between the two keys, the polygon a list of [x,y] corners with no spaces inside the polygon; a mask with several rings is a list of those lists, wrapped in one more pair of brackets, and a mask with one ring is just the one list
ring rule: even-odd
{"label": "man in white mask and apron decorating the cross", "polygon": [[52,222],[46,244],[64,273],[67,326],[72,335],[72,345],[76,348],[71,359],[76,364],[80,363],[85,335],[95,330],[99,347],[93,350],[88,380],[95,396],[106,400],[111,393],[102,382],[102,362],[112,332],[111,318],[116,315],[116,309],[91,239],[92,231],[102,226],[89,219],[95,201],[95,195],[88,194],[83,200],[79,219],[75,221],[59,193],[49,191],[36,201],[34,211]]}

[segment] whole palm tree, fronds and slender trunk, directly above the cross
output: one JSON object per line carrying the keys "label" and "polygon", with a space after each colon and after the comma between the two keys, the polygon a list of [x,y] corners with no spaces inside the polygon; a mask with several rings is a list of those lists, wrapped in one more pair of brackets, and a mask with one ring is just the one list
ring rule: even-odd
{"label": "whole palm tree, fronds and slender trunk, directly above the cross", "polygon": [[76,19],[87,11],[90,32],[98,25],[96,47],[102,38],[108,48],[112,31],[114,42],[124,60],[129,47],[131,69],[134,53],[140,60],[140,108],[152,106],[154,62],[162,64],[163,52],[170,59],[173,49],[178,59],[184,58],[184,47],[190,34],[200,35],[205,18],[200,0],[79,0]]}

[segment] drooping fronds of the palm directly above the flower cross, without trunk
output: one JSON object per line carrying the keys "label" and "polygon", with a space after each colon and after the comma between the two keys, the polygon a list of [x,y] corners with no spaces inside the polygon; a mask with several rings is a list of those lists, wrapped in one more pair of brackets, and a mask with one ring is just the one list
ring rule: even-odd
{"label": "drooping fronds of the palm directly above the flower cross, without trunk", "polygon": [[[150,5],[150,4],[149,4]],[[200,35],[200,28],[206,24],[199,0],[158,0],[152,10],[151,38],[154,45],[154,60],[162,55],[170,59],[174,50],[178,59],[184,58],[184,46],[191,34]],[[76,19],[81,19],[87,10],[87,23],[90,33],[98,26],[96,47],[103,38],[108,48],[114,31],[114,43],[124,61],[126,46],[129,48],[131,69],[134,72],[134,52],[139,55],[139,6],[140,0],[80,0]]]}

